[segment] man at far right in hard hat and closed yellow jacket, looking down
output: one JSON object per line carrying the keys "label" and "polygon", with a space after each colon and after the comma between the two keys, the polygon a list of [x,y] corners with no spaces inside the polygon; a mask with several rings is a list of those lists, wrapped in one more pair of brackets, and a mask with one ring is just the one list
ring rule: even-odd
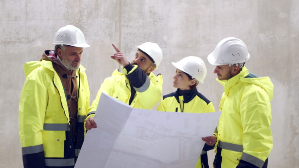
{"label": "man at far right in hard hat and closed yellow jacket, looking down", "polygon": [[237,38],[221,40],[208,56],[217,81],[224,86],[219,110],[216,168],[267,168],[273,148],[271,104],[273,84],[244,67],[246,44]]}

